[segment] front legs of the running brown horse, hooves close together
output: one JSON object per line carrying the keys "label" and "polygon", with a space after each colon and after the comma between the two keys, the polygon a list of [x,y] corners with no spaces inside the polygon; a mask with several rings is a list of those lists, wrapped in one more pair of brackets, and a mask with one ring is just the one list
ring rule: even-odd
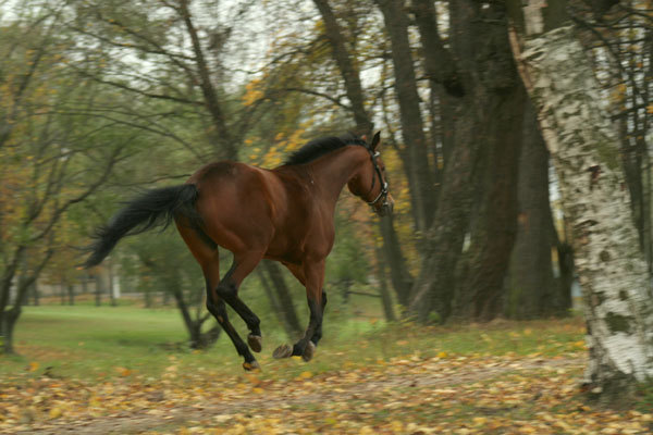
{"label": "front legs of the running brown horse, hooves close together", "polygon": [[310,318],[304,337],[292,347],[288,345],[278,347],[274,350],[273,357],[288,358],[300,356],[305,361],[310,361],[313,357],[316,345],[322,337],[322,315],[324,306],[326,304],[326,295],[322,290],[322,285],[324,284],[324,260],[305,263],[304,268],[301,268],[301,273],[299,273],[299,270],[293,271],[293,269],[291,269],[291,272],[300,282],[303,281],[306,286]]}

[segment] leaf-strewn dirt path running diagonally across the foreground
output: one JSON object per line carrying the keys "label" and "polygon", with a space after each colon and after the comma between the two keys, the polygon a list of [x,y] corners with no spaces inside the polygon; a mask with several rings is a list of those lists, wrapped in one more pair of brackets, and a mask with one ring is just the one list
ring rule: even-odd
{"label": "leaf-strewn dirt path running diagonally across the foreground", "polygon": [[[22,434],[135,434],[144,432],[176,433],[181,427],[204,433],[201,427],[238,425],[249,418],[274,419],[288,414],[308,415],[322,409],[337,410],[334,403],[345,403],[343,412],[357,407],[365,415],[366,409],[393,410],[412,397],[435,395],[440,399],[454,399],[465,394],[469,385],[502,380],[508,376],[540,376],[578,372],[584,365],[580,358],[510,360],[401,360],[394,364],[371,368],[370,371],[340,371],[319,376],[309,375],[283,382],[262,382],[251,386],[238,384],[237,393],[225,391],[215,397],[189,400],[161,400],[150,408],[134,412],[118,412],[108,417],[87,417],[76,421],[49,421]],[[544,376],[542,376],[544,374]],[[463,388],[463,389],[461,389]],[[537,395],[538,393],[534,393]],[[220,396],[220,397],[218,397]],[[435,397],[434,396],[434,397]],[[393,401],[395,400],[396,401]],[[429,401],[429,400],[426,400]],[[340,406],[340,405],[338,405]],[[389,411],[389,412],[390,412]],[[326,412],[326,411],[324,411]],[[349,412],[350,413],[350,412]],[[330,420],[328,420],[331,424]],[[337,422],[336,422],[337,423]],[[402,423],[403,424],[403,423]],[[406,427],[406,426],[402,426]],[[237,432],[236,432],[237,433]],[[246,432],[250,433],[250,432]],[[280,428],[272,433],[293,433]]]}

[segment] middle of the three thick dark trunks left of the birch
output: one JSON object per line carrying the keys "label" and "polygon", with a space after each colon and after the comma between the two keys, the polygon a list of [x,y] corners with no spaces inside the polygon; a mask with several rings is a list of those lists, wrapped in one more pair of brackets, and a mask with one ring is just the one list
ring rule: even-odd
{"label": "middle of the three thick dark trunks left of the birch", "polygon": [[[512,55],[507,44],[506,55]],[[489,321],[503,311],[504,278],[517,235],[517,169],[522,140],[526,90],[513,74],[513,89],[489,98],[484,130],[484,191],[456,295],[459,316]]]}

